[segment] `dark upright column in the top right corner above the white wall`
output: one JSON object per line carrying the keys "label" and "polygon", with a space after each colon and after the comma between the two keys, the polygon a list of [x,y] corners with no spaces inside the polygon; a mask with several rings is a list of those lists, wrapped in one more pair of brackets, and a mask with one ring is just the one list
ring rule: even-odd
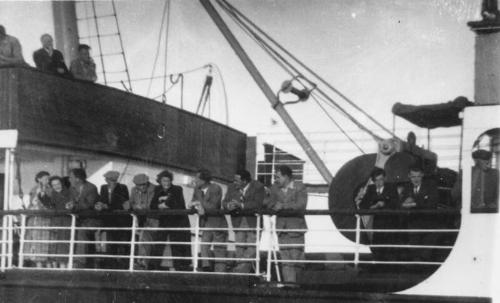
{"label": "dark upright column in the top right corner above the white wall", "polygon": [[483,20],[468,25],[476,33],[474,100],[500,104],[500,12],[497,0],[483,0]]}

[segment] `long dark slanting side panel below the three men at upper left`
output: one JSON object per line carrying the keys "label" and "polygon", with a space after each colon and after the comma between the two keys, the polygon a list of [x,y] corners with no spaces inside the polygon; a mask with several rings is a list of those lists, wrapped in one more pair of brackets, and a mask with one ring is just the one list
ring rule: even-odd
{"label": "long dark slanting side panel below the three men at upper left", "polygon": [[19,144],[86,151],[230,180],[246,135],[220,123],[99,84],[28,67],[0,68],[0,129]]}

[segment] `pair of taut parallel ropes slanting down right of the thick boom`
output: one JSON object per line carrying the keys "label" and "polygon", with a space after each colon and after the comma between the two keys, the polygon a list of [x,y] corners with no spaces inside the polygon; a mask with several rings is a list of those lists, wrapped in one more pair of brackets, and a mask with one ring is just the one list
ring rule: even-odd
{"label": "pair of taut parallel ropes slanting down right of the thick boom", "polygon": [[[268,39],[272,44],[274,44],[276,47],[278,47],[278,49],[280,51],[282,51],[283,53],[285,53],[287,56],[289,56],[292,60],[294,60],[296,63],[298,63],[302,68],[304,68],[307,72],[309,72],[311,75],[313,75],[314,77],[316,77],[320,82],[322,82],[323,84],[325,84],[328,88],[330,88],[332,91],[334,91],[336,94],[338,94],[342,99],[344,99],[347,103],[349,103],[351,106],[353,106],[355,109],[357,109],[359,112],[361,112],[362,114],[364,114],[366,117],[368,117],[372,122],[374,122],[375,124],[377,124],[380,128],[382,128],[384,131],[386,131],[387,133],[389,133],[392,137],[395,137],[397,138],[397,136],[391,132],[389,129],[387,129],[384,125],[382,125],[381,123],[379,123],[377,120],[375,120],[372,116],[370,116],[368,113],[366,113],[365,111],[363,111],[359,106],[357,106],[352,100],[350,100],[349,98],[347,98],[345,95],[343,95],[339,90],[337,90],[336,88],[334,88],[332,85],[330,85],[328,82],[326,82],[322,77],[320,77],[318,74],[316,74],[313,70],[311,70],[309,67],[307,67],[304,63],[302,63],[300,60],[298,60],[295,56],[293,56],[290,52],[288,52],[285,48],[283,48],[279,43],[277,43],[273,38],[271,38],[266,32],[264,32],[262,29],[260,29],[257,25],[255,25],[252,21],[250,21],[245,15],[243,15],[240,11],[238,11],[235,7],[233,7],[231,4],[229,4],[226,0],[217,0],[217,3],[229,14],[229,15],[235,15],[237,16],[235,19],[239,20],[237,22],[237,24],[243,28],[249,28],[250,26],[252,28],[254,28],[258,33],[260,33],[261,35],[263,35],[266,39]],[[244,20],[244,22],[243,22]],[[245,32],[253,32],[255,33],[252,29],[248,29],[248,30],[245,30]],[[294,68],[285,58],[283,58],[283,56],[281,56],[280,54],[278,54],[269,44],[267,44],[262,38],[260,38],[257,33],[254,34],[256,39],[260,40],[261,43],[259,44],[265,44],[266,47],[271,50],[273,53],[275,53],[275,56],[273,56],[273,58],[280,58],[280,60],[282,60],[283,62],[285,62],[288,66],[292,67],[295,71],[297,71],[297,73],[299,75],[301,75],[302,77],[305,78],[305,76],[303,76],[296,68]],[[324,93],[321,89],[318,88],[318,92],[320,92],[321,94],[323,94],[325,97],[327,97],[329,99],[330,102],[334,102],[333,99],[331,99],[330,97],[328,97],[328,95],[326,93]],[[376,138],[380,138],[379,136],[377,135],[374,135],[373,132],[371,132],[367,127],[364,127],[361,123],[359,123],[357,121],[357,119],[355,119],[353,116],[351,116],[350,114],[348,114],[341,106],[339,106],[338,104],[336,104],[336,106],[344,112],[344,114],[346,116],[349,117],[349,119],[354,122],[358,127],[360,127],[361,129],[367,131],[368,133],[370,133],[370,135],[372,135],[375,139]]]}

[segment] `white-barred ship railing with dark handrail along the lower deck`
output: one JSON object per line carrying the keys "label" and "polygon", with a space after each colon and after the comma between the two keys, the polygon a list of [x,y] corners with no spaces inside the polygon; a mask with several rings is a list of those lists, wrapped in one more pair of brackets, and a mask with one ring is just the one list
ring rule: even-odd
{"label": "white-barred ship railing with dark handrail along the lower deck", "polygon": [[[206,216],[222,216],[226,214],[231,214],[231,212],[227,211],[207,211]],[[255,257],[252,258],[236,258],[236,257],[215,257],[215,256],[201,256],[200,246],[201,245],[219,245],[225,246],[228,245],[229,242],[202,242],[200,239],[201,233],[204,231],[228,231],[228,228],[212,228],[212,227],[201,227],[200,226],[200,218],[201,216],[196,213],[195,210],[166,210],[166,211],[118,211],[118,212],[97,212],[97,211],[82,211],[82,212],[70,212],[70,211],[33,211],[33,210],[12,210],[12,211],[0,211],[0,217],[3,218],[4,228],[3,231],[13,234],[19,235],[19,252],[17,252],[18,262],[17,264],[13,264],[14,260],[14,245],[13,245],[13,236],[2,238],[1,245],[3,247],[2,254],[0,257],[2,258],[2,264],[5,264],[2,267],[2,270],[7,270],[14,267],[19,268],[27,268],[25,266],[26,259],[32,257],[47,257],[47,258],[63,258],[67,260],[66,270],[73,270],[75,268],[75,258],[104,258],[104,259],[128,259],[127,268],[123,269],[115,269],[115,270],[124,270],[124,271],[140,271],[140,269],[136,269],[136,260],[191,260],[192,269],[185,270],[183,272],[192,272],[198,273],[198,263],[201,260],[211,260],[211,261],[222,261],[222,262],[236,262],[236,261],[244,261],[250,262],[253,264],[253,272],[248,273],[247,275],[254,275],[258,277],[262,277],[267,281],[271,281],[272,279],[272,267],[274,267],[274,271],[276,273],[276,278],[280,281],[280,273],[279,266],[285,263],[302,263],[302,264],[349,264],[354,267],[358,267],[360,264],[407,264],[407,265],[439,265],[441,262],[436,261],[428,261],[428,260],[420,260],[420,261],[401,261],[401,260],[362,260],[361,259],[361,247],[368,246],[369,248],[393,248],[393,249],[412,249],[412,250],[420,250],[420,249],[436,249],[436,250],[450,250],[453,246],[447,245],[439,245],[439,244],[406,244],[406,243],[375,243],[375,244],[364,244],[362,243],[362,235],[364,233],[398,233],[398,234],[412,234],[412,233],[439,233],[439,234],[450,234],[450,233],[458,233],[459,229],[453,228],[429,228],[429,229],[397,229],[397,228],[388,228],[388,229],[376,229],[376,228],[363,228],[361,217],[364,215],[436,215],[442,218],[442,216],[457,216],[460,215],[458,210],[360,210],[360,211],[350,211],[350,210],[338,210],[338,211],[325,211],[325,210],[307,210],[307,211],[271,211],[271,210],[263,210],[259,212],[252,211],[241,211],[238,214],[232,213],[233,215],[241,215],[241,216],[256,216],[257,219],[257,227],[258,228],[233,228],[233,231],[253,231],[256,233],[256,241],[249,242],[231,242],[231,245],[239,246],[239,247],[255,247],[256,254]],[[290,260],[283,259],[279,257],[279,249],[285,247],[300,247],[301,249],[305,249],[306,244],[283,244],[277,242],[277,235],[282,232],[296,232],[296,233],[307,233],[313,231],[332,231],[329,229],[277,229],[274,224],[271,224],[269,229],[261,228],[261,222],[263,216],[277,216],[277,217],[294,217],[294,216],[304,216],[304,215],[332,215],[332,214],[343,214],[346,216],[354,216],[356,219],[354,228],[344,228],[337,229],[340,232],[352,233],[354,234],[354,241],[348,245],[346,244],[312,244],[312,246],[318,247],[350,247],[353,248],[354,253],[351,257],[345,258],[343,260]],[[141,227],[139,226],[139,218],[141,217],[156,217],[159,218],[161,216],[179,216],[179,215],[193,215],[194,225],[191,227]],[[28,221],[31,217],[56,217],[56,216],[70,216],[71,223],[69,226],[33,226],[29,225]],[[108,216],[128,216],[132,217],[132,225],[130,227],[100,227],[100,226],[78,226],[78,223],[82,218],[105,218]],[[17,224],[14,224],[14,218],[18,218]],[[7,226],[5,226],[7,225]],[[69,230],[69,239],[67,240],[54,240],[54,239],[27,239],[27,234],[31,231],[64,231]],[[131,238],[127,241],[111,241],[111,240],[79,240],[77,237],[78,231],[87,230],[87,231],[130,231]],[[2,231],[2,232],[3,232]],[[192,241],[145,241],[141,238],[136,237],[136,235],[140,232],[189,232]],[[263,233],[270,233],[271,237],[269,239],[270,243],[267,243],[267,261],[266,268],[264,270],[260,267],[261,261],[261,235]],[[68,253],[42,253],[42,252],[26,252],[26,245],[30,244],[68,244]],[[127,245],[129,247],[129,251],[127,254],[107,254],[107,253],[95,253],[95,254],[81,254],[75,252],[76,245],[96,245],[96,244],[106,244],[106,245]],[[137,254],[137,246],[140,245],[186,245],[191,247],[192,256],[157,256],[157,255],[140,255]],[[308,244],[311,246],[311,244]],[[54,268],[50,268],[54,269]],[[80,268],[78,268],[80,269]],[[110,270],[110,269],[100,269],[97,268],[95,270]],[[154,270],[151,270],[154,271]],[[205,273],[205,272],[203,272]],[[221,272],[221,273],[211,273],[211,274],[238,274],[241,273],[230,273],[230,272]]]}

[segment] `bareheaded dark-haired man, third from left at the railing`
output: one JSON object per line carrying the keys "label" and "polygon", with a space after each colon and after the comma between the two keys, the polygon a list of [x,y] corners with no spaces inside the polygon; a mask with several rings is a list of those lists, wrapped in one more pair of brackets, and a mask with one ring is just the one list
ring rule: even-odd
{"label": "bareheaded dark-haired man, third from left at the railing", "polygon": [[[73,210],[94,210],[95,204],[99,200],[97,187],[87,181],[87,173],[82,168],[73,168],[69,173],[71,182],[70,195],[71,202],[68,204],[69,209]],[[96,227],[99,226],[99,221],[96,218],[87,217],[79,218],[77,221],[79,227],[89,227],[92,229],[79,229],[76,232],[76,240],[78,241],[93,241],[95,240]],[[95,246],[87,243],[76,243],[75,254],[83,255],[95,252]],[[97,265],[94,259],[85,257],[76,257],[74,267],[95,267]]]}

